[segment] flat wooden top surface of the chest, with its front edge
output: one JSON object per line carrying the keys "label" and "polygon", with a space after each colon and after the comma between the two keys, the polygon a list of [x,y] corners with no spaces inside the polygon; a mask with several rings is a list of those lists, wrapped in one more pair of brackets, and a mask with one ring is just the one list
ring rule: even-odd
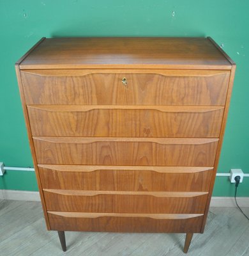
{"label": "flat wooden top surface of the chest, with its front edge", "polygon": [[17,65],[40,68],[227,69],[211,38],[41,38]]}

